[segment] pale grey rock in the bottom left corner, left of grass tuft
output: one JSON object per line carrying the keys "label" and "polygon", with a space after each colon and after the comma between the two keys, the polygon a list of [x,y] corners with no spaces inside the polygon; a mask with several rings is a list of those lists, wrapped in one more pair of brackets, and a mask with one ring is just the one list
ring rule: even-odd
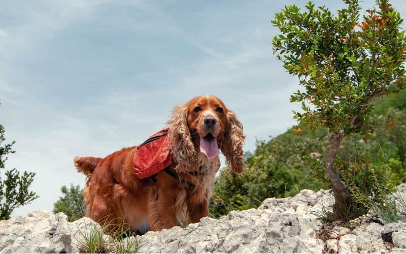
{"label": "pale grey rock in the bottom left corner, left of grass tuft", "polygon": [[0,253],[79,252],[83,235],[100,226],[86,217],[73,223],[66,217],[63,213],[37,211],[0,220]]}

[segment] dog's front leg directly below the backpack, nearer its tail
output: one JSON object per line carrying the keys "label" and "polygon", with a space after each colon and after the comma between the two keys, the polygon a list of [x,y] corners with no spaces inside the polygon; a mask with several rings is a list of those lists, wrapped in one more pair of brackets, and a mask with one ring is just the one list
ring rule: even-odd
{"label": "dog's front leg directly below the backpack, nearer its tail", "polygon": [[175,200],[165,188],[151,187],[148,196],[148,216],[152,231],[170,229],[177,225]]}

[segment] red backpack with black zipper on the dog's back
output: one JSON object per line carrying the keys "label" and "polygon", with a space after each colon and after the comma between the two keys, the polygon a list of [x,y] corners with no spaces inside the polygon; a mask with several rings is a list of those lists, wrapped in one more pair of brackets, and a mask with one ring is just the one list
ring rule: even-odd
{"label": "red backpack with black zipper on the dog's back", "polygon": [[142,179],[164,170],[173,163],[171,151],[168,129],[155,133],[134,152],[132,161],[134,173]]}

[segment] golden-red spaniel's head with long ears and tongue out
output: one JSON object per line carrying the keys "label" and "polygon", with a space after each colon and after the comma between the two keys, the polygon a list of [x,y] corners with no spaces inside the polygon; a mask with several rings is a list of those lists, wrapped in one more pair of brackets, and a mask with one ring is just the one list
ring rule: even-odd
{"label": "golden-red spaniel's head with long ears and tongue out", "polygon": [[223,152],[233,172],[244,170],[243,125],[215,96],[197,96],[175,107],[167,122],[176,169],[196,170],[197,155],[212,160]]}

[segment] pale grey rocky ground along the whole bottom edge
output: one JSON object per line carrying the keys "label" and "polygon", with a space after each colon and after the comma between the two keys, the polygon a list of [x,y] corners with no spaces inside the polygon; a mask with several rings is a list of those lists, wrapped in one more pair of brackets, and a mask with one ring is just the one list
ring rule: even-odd
{"label": "pale grey rocky ground along the whole bottom edge", "polygon": [[[399,187],[406,200],[406,184]],[[399,195],[399,194],[397,194]],[[324,240],[315,212],[333,203],[325,190],[302,190],[292,198],[266,199],[258,209],[233,211],[220,219],[202,218],[137,237],[140,252],[406,252],[406,223],[363,223],[332,227]],[[31,212],[0,221],[0,252],[78,252],[83,235],[99,227],[88,218],[73,223],[63,213]],[[108,236],[105,236],[108,239]]]}

